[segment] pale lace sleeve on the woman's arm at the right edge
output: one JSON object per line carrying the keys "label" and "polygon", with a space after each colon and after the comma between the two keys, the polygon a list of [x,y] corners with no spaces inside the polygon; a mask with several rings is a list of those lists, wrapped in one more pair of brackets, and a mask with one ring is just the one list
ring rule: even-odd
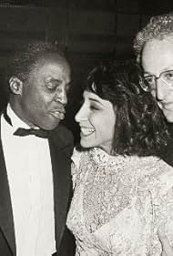
{"label": "pale lace sleeve on the woman's arm at the right edge", "polygon": [[158,227],[165,223],[166,235],[173,246],[173,172],[161,175],[151,189],[153,207],[153,238],[152,253],[149,255],[161,255],[161,244],[158,240]]}

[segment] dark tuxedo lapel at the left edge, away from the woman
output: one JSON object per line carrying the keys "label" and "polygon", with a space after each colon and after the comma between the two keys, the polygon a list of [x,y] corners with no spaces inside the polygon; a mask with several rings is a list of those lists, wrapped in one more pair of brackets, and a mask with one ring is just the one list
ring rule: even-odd
{"label": "dark tuxedo lapel at the left edge, away from the woman", "polygon": [[[0,117],[1,118],[1,117]],[[1,125],[0,125],[1,131]],[[0,135],[0,227],[4,232],[5,239],[9,247],[16,255],[15,249],[15,228],[13,220],[13,211],[10,199],[10,191],[8,186],[5,159],[2,148],[2,141]]]}

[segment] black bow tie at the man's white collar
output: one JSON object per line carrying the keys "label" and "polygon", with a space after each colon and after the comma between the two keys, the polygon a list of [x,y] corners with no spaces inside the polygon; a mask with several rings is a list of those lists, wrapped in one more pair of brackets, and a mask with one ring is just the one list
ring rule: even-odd
{"label": "black bow tie at the man's white collar", "polygon": [[35,135],[39,138],[48,138],[50,136],[50,131],[45,129],[37,129],[37,128],[17,128],[14,132],[16,136],[27,136],[27,135]]}

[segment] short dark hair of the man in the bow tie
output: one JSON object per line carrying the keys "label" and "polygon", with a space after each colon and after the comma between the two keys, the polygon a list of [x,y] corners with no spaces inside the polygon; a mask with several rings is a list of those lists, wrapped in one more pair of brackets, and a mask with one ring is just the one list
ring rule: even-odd
{"label": "short dark hair of the man in the bow tie", "polygon": [[64,52],[58,49],[56,44],[47,42],[33,42],[17,48],[9,57],[6,67],[6,80],[10,77],[18,77],[25,81],[30,72],[36,67],[40,57],[56,54],[62,60],[66,60]]}

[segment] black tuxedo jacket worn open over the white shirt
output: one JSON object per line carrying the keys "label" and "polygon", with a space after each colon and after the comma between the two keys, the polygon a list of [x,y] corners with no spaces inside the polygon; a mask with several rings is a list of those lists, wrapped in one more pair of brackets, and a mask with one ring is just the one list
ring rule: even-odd
{"label": "black tuxedo jacket worn open over the white shirt", "polygon": [[[1,131],[1,123],[0,123]],[[74,241],[66,229],[66,214],[71,200],[71,154],[73,150],[73,137],[62,125],[51,132],[49,148],[52,161],[54,180],[55,205],[55,255],[74,255]],[[22,207],[22,206],[21,206]],[[25,230],[27,232],[27,230]],[[15,256],[15,229],[10,190],[5,168],[5,158],[0,135],[0,255]],[[24,255],[25,256],[25,255]],[[49,256],[49,255],[47,255]]]}

